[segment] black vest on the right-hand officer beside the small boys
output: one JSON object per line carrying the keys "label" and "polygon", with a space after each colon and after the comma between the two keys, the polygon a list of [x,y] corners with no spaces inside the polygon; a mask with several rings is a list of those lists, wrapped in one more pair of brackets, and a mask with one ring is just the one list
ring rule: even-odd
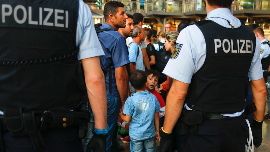
{"label": "black vest on the right-hand officer beside the small boys", "polygon": [[248,92],[248,71],[255,35],[246,25],[228,29],[212,21],[197,22],[206,42],[203,66],[191,79],[186,97],[194,110],[216,114],[241,112]]}

